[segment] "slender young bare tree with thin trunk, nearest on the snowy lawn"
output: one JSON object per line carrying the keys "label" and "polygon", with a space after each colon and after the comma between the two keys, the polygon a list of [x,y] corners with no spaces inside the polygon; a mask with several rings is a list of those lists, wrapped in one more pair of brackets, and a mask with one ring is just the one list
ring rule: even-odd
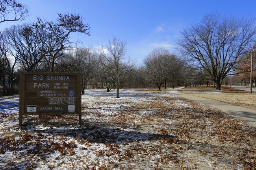
{"label": "slender young bare tree with thin trunk, nearest on the snowy lawn", "polygon": [[119,98],[120,79],[123,79],[128,71],[134,67],[135,62],[130,60],[130,58],[126,55],[126,41],[113,37],[113,39],[109,40],[108,42],[109,43],[106,46],[108,52],[104,51],[104,47],[102,46],[99,49],[101,53],[100,56],[107,61],[106,63],[102,62],[104,67],[111,70],[111,74],[113,77],[115,77],[115,85],[117,88],[116,97]]}

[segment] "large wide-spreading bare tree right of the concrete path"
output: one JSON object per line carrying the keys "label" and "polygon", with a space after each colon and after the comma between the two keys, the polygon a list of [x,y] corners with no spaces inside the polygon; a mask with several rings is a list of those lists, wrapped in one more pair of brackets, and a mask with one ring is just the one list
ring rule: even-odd
{"label": "large wide-spreading bare tree right of the concrete path", "polygon": [[191,61],[191,67],[207,71],[221,90],[223,79],[254,43],[256,27],[254,18],[224,18],[211,13],[181,33],[180,52]]}

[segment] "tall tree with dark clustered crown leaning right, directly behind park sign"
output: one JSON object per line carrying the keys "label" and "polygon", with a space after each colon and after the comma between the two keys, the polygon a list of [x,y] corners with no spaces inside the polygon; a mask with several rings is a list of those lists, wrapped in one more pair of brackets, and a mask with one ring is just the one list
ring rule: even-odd
{"label": "tall tree with dark clustered crown leaning right, directly behind park sign", "polygon": [[78,42],[70,42],[71,33],[80,32],[85,35],[91,35],[89,24],[83,23],[83,18],[76,14],[58,14],[57,22],[45,22],[38,18],[37,22],[33,23],[35,30],[43,30],[45,37],[42,37],[44,43],[45,63],[50,66],[48,69],[54,72],[54,66],[59,57],[62,57],[63,51],[70,48],[70,44]]}

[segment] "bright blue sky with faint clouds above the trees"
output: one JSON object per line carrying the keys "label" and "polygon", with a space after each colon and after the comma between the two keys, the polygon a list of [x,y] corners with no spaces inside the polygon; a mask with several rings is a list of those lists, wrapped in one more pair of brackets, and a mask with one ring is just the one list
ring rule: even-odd
{"label": "bright blue sky with faint clouds above the trees", "polygon": [[127,55],[143,62],[153,49],[176,53],[180,31],[199,23],[211,12],[224,16],[256,17],[256,0],[17,0],[27,5],[30,16],[22,22],[3,22],[0,30],[34,22],[36,17],[55,20],[57,13],[76,13],[91,26],[91,36],[73,33],[84,47],[108,44],[113,36],[127,40]]}

